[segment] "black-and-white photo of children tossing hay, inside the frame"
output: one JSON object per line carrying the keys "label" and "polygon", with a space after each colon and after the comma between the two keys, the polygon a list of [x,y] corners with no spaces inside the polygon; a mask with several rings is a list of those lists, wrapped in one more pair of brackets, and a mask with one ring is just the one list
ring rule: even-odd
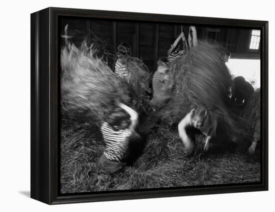
{"label": "black-and-white photo of children tossing hay, inside the frame", "polygon": [[62,17],[61,194],[261,182],[261,30]]}

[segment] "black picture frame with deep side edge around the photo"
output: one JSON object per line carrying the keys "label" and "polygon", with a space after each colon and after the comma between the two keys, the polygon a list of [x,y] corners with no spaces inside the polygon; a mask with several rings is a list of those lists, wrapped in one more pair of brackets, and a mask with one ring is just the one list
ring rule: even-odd
{"label": "black picture frame with deep side edge around the photo", "polygon": [[[60,194],[58,20],[61,16],[161,21],[261,30],[261,181],[252,184]],[[268,190],[268,21],[48,7],[34,12],[31,22],[31,178],[30,197],[47,204],[138,199]]]}

